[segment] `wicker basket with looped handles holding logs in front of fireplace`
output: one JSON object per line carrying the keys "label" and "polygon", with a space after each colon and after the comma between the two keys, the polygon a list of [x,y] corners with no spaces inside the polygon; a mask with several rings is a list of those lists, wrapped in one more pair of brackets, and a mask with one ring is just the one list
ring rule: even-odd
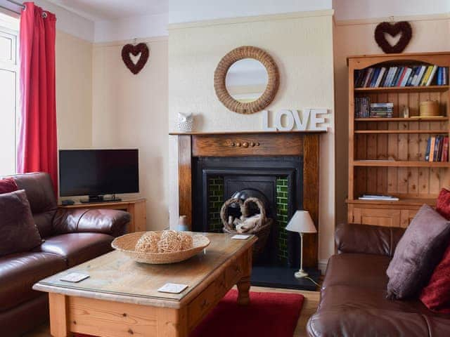
{"label": "wicker basket with looped handles holding logs in front of fireplace", "polygon": [[[240,218],[229,216],[229,206],[238,204],[240,207]],[[255,204],[259,209],[259,214],[250,215],[250,205]],[[241,199],[231,198],[224,202],[220,210],[220,218],[224,224],[224,232],[230,234],[254,234],[258,240],[253,245],[253,257],[255,260],[264,250],[267,239],[274,222],[271,218],[266,217],[266,209],[261,200],[250,197],[242,201]]]}

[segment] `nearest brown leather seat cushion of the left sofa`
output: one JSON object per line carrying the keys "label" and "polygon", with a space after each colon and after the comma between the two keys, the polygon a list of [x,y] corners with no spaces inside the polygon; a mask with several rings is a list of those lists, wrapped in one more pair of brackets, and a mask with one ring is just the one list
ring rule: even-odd
{"label": "nearest brown leather seat cushion of the left sofa", "polygon": [[65,268],[64,258],[50,253],[15,253],[1,257],[0,312],[41,295],[32,290],[33,284]]}

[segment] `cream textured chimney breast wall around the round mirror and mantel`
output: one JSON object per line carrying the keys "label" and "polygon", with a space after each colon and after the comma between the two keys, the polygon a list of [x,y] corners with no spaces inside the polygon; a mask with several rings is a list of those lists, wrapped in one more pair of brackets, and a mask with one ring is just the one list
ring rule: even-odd
{"label": "cream textured chimney breast wall around the round mirror and mantel", "polygon": [[[314,16],[311,16],[314,15]],[[268,110],[323,107],[331,112],[330,130],[321,136],[319,260],[333,253],[335,223],[335,141],[332,11],[264,16],[260,20],[217,20],[169,26],[169,128],[176,114],[193,112],[195,131],[262,129],[262,113],[242,115],[226,109],[214,93],[214,69],[231,49],[263,48],[276,61],[281,85]],[[178,220],[176,137],[169,145],[169,211]]]}

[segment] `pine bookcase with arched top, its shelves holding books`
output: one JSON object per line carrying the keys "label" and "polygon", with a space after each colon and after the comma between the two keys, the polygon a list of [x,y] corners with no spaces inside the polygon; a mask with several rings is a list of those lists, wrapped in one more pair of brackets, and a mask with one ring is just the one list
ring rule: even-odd
{"label": "pine bookcase with arched top, its shelves holding books", "polygon": [[[450,163],[425,161],[428,138],[449,135],[450,86],[354,88],[356,70],[366,67],[438,65],[450,67],[450,52],[361,55],[349,65],[348,220],[352,223],[406,227],[422,204],[435,204],[450,185]],[[354,99],[394,103],[392,118],[355,118]],[[409,107],[418,117],[419,103],[437,100],[442,117],[404,118]],[[399,201],[359,200],[362,194],[389,194]]]}

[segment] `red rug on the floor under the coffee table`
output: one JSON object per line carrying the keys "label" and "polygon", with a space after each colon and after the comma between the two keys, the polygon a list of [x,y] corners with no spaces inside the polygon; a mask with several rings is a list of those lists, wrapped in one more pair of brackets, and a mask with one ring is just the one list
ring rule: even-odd
{"label": "red rug on the floor under the coffee table", "polygon": [[302,295],[252,291],[249,305],[238,305],[237,298],[238,291],[229,291],[189,337],[293,337]]}

